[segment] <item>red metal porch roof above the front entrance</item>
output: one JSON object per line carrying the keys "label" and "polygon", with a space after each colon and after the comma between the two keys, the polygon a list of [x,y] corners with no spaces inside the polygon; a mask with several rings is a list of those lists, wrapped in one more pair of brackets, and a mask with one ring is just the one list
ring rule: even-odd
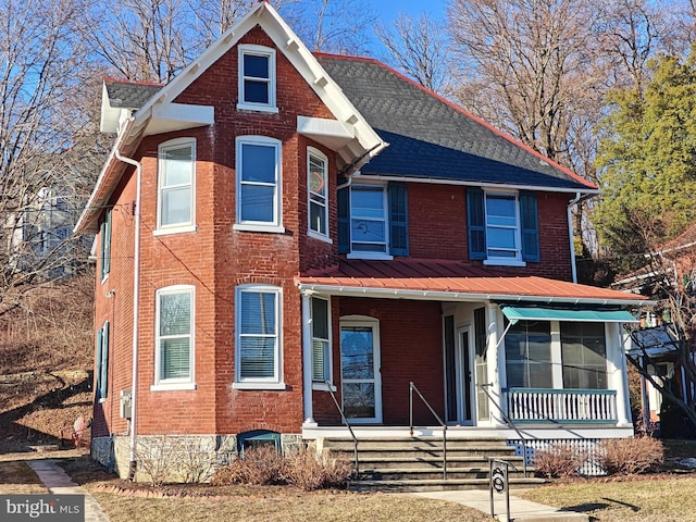
{"label": "red metal porch roof above the front entrance", "polygon": [[300,274],[295,283],[304,291],[397,299],[649,303],[645,297],[625,291],[537,276],[509,276],[501,269],[449,260],[341,260],[332,268]]}

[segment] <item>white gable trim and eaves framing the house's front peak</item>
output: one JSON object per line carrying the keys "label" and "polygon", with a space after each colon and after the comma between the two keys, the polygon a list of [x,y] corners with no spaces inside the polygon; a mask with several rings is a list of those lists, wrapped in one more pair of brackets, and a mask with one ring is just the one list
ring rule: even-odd
{"label": "white gable trim and eaves framing the house's front peak", "polygon": [[[135,108],[116,107],[124,103],[127,105],[128,102],[123,100],[112,104],[110,97],[117,92],[119,86],[104,87],[105,101],[102,102],[102,107],[119,111],[115,119],[111,117],[109,120],[113,127],[112,130],[117,130],[119,136],[97,179],[87,207],[75,225],[75,232],[97,232],[97,221],[101,214],[101,209],[107,204],[125,170],[125,165],[123,161],[119,160],[119,156],[123,157],[132,153],[144,136],[214,123],[214,108],[202,104],[175,103],[174,100],[256,26],[260,26],[273,40],[278,52],[282,52],[288,59],[335,116],[335,121],[323,121],[320,122],[319,126],[321,126],[321,123],[333,124],[331,125],[332,132],[343,139],[337,152],[346,163],[359,169],[386,147],[382,138],[358,112],[336,83],[326,74],[314,55],[281,15],[268,2],[258,2],[239,22],[229,27],[172,82],[158,89],[154,94],[150,91],[152,86],[134,84],[132,86],[133,90],[127,91],[129,102],[138,102],[141,99],[140,96],[145,97],[147,101],[137,108],[135,114],[125,120],[125,123],[121,121],[123,116],[121,109],[130,110]],[[149,90],[150,96],[147,97],[142,91],[136,92],[135,89],[140,87],[142,87],[142,90]]]}

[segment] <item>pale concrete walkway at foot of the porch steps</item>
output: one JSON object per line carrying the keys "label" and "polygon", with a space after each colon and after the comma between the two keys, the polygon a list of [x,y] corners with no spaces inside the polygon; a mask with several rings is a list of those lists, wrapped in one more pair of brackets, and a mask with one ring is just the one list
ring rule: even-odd
{"label": "pale concrete walkway at foot of the porch steps", "polygon": [[[464,505],[469,508],[477,509],[490,514],[490,493],[488,489],[465,489],[452,492],[424,492],[415,493],[421,497],[448,500]],[[588,522],[589,517],[584,513],[563,511],[543,504],[524,500],[514,495],[510,495],[510,518],[507,517],[505,495],[495,493],[494,508],[496,518],[500,521],[524,521],[524,522]]]}

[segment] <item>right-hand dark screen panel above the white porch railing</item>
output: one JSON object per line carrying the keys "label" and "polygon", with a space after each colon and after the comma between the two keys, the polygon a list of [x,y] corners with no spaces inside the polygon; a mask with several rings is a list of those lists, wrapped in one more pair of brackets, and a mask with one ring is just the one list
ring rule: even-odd
{"label": "right-hand dark screen panel above the white porch railing", "polygon": [[607,389],[604,323],[561,323],[563,387]]}

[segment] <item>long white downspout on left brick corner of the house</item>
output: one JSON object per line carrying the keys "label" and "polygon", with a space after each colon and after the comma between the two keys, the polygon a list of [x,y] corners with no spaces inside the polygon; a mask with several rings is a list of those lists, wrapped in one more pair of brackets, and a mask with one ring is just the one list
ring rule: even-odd
{"label": "long white downspout on left brick corner of the house", "polygon": [[119,161],[135,166],[136,172],[136,192],[135,192],[135,252],[133,269],[133,389],[130,390],[130,463],[128,469],[128,478],[133,480],[136,472],[136,412],[137,412],[137,383],[138,383],[138,335],[139,320],[138,311],[140,308],[140,189],[142,185],[142,164],[132,158],[121,156],[119,149],[115,149],[115,157]]}

